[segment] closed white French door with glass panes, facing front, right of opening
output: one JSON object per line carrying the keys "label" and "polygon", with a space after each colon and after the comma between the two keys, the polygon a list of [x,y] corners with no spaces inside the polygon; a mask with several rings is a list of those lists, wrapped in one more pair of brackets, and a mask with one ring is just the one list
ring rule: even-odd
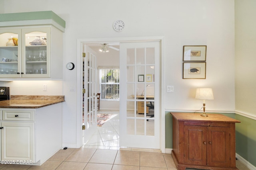
{"label": "closed white French door with glass panes, facing front, right of opening", "polygon": [[120,146],[160,149],[160,41],[120,43]]}

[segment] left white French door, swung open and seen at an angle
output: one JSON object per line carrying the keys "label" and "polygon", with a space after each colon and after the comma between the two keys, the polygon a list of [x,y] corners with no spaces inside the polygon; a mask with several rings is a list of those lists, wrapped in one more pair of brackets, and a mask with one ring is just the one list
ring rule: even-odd
{"label": "left white French door, swung open and seen at an angle", "polygon": [[[84,48],[85,49],[85,48]],[[86,51],[83,57],[83,144],[97,130],[97,64],[96,56]]]}

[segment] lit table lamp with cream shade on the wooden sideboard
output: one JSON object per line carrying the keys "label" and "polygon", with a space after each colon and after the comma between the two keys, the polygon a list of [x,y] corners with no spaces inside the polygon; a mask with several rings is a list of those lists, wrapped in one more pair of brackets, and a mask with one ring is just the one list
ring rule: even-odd
{"label": "lit table lamp with cream shade on the wooden sideboard", "polygon": [[197,88],[196,89],[196,99],[201,99],[203,101],[204,113],[201,116],[207,117],[205,113],[205,100],[214,100],[212,88]]}

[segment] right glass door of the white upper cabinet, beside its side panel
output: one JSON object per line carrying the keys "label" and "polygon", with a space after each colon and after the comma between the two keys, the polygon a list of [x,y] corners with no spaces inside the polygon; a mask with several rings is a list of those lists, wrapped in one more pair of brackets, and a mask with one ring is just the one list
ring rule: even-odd
{"label": "right glass door of the white upper cabinet, beside its side panel", "polygon": [[22,29],[22,77],[50,77],[50,28]]}

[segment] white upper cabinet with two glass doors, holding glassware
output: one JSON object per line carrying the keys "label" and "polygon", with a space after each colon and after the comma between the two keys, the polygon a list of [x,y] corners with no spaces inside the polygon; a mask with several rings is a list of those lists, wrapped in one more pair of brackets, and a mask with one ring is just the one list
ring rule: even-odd
{"label": "white upper cabinet with two glass doors, holding glassware", "polygon": [[60,25],[22,25],[19,21],[11,22],[14,26],[10,27],[11,23],[7,23],[9,26],[0,27],[0,80],[62,79],[63,30]]}

